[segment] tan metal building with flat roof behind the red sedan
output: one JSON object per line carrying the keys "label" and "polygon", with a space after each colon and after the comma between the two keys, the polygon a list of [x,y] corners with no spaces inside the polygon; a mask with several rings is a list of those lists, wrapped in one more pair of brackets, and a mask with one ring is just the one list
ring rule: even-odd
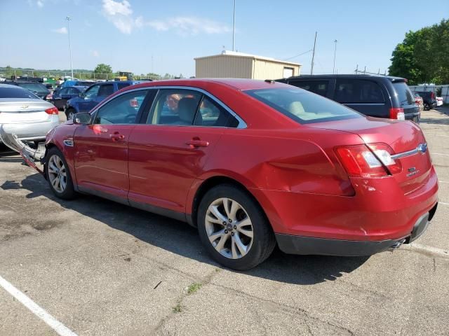
{"label": "tan metal building with flat roof behind the red sedan", "polygon": [[241,52],[195,58],[196,78],[278,79],[300,75],[301,64]]}

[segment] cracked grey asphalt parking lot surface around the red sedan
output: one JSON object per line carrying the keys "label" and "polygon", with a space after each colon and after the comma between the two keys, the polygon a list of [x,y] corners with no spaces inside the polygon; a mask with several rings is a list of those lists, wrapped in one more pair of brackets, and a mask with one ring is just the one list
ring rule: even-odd
{"label": "cracked grey asphalt parking lot surface around the red sedan", "polygon": [[[213,262],[184,223],[93,196],[56,199],[1,148],[0,276],[77,335],[449,335],[442,111],[422,112],[440,180],[423,237],[370,258],[276,250],[249,272]],[[4,288],[0,316],[0,335],[56,335]]]}

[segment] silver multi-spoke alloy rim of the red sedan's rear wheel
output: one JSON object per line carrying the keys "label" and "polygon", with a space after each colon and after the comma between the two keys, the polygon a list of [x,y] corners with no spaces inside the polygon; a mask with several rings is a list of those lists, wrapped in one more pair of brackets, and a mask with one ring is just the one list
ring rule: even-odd
{"label": "silver multi-spoke alloy rim of the red sedan's rear wheel", "polygon": [[206,212],[206,233],[210,244],[229,259],[248,254],[253,244],[253,224],[238,202],[224,197],[213,201]]}

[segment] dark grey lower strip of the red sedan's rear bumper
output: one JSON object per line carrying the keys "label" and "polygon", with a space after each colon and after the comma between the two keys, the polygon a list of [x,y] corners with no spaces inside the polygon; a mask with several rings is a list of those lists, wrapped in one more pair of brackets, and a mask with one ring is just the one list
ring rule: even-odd
{"label": "dark grey lower strip of the red sedan's rear bumper", "polygon": [[420,237],[429,226],[437,204],[427,213],[420,216],[413,225],[408,237],[386,239],[380,241],[326,239],[276,234],[276,241],[284,253],[301,255],[340,255],[361,256],[373,255],[389,248],[398,248],[403,243],[410,243]]}

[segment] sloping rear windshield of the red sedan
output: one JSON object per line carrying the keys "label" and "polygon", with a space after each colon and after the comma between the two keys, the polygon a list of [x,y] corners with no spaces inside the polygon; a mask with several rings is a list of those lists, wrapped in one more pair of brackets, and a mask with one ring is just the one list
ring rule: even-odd
{"label": "sloping rear windshield of the red sedan", "polygon": [[298,88],[257,89],[245,92],[300,124],[362,118],[358,112],[346,106]]}

